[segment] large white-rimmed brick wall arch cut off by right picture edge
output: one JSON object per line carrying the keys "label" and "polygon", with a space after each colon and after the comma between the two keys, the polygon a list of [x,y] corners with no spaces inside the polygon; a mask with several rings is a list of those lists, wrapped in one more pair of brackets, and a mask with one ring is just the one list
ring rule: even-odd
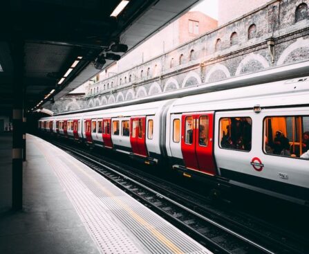
{"label": "large white-rimmed brick wall arch cut off by right picture edge", "polygon": [[[307,53],[303,53],[303,50],[307,51]],[[300,53],[299,51],[302,51]],[[289,62],[295,62],[293,55],[297,55],[297,60],[308,60],[308,57],[306,57],[309,53],[309,39],[303,39],[299,38],[296,42],[292,43],[288,48],[285,48],[285,50],[281,53],[278,61],[277,66],[282,64],[288,64]],[[303,57],[301,57],[303,55]]]}

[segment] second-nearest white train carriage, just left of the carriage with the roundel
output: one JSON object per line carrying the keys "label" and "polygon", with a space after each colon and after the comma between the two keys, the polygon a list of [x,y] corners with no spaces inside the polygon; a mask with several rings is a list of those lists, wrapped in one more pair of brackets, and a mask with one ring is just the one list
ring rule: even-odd
{"label": "second-nearest white train carriage, just left of the carriage with the roundel", "polygon": [[87,112],[83,115],[83,136],[88,144],[157,163],[162,154],[160,129],[165,129],[165,114],[172,101]]}

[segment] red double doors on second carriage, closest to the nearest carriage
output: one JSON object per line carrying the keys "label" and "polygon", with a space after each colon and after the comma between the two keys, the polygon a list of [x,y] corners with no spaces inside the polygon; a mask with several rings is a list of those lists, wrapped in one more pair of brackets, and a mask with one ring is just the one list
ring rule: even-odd
{"label": "red double doors on second carriage, closest to the nearest carriage", "polygon": [[132,152],[142,156],[148,156],[146,147],[146,117],[131,118],[130,143]]}

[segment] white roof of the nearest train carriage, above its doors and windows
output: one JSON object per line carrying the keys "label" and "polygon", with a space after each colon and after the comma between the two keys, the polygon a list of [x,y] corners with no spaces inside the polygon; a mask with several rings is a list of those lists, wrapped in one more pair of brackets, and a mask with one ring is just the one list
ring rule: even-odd
{"label": "white roof of the nearest train carriage, above its doors and windows", "polygon": [[169,112],[308,105],[308,98],[309,77],[304,77],[179,98]]}

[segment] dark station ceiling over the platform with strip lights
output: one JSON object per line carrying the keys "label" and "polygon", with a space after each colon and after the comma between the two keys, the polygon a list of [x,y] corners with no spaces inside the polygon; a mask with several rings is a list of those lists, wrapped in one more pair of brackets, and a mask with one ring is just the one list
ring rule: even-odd
{"label": "dark station ceiling over the platform with strip lights", "polygon": [[1,1],[0,114],[12,111],[12,42],[22,42],[24,49],[20,57],[28,110],[53,89],[56,100],[100,72],[93,62],[105,51],[111,52],[111,45],[126,44],[130,50],[197,2],[130,0],[118,17],[111,17],[120,0]]}

